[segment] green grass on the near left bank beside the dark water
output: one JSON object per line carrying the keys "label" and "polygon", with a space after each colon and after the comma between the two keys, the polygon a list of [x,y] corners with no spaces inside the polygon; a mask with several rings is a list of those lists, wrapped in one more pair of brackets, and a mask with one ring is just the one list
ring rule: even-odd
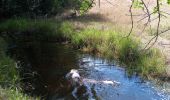
{"label": "green grass on the near left bank beside the dark water", "polygon": [[19,72],[16,62],[6,55],[7,43],[0,37],[0,99],[30,100],[19,89]]}

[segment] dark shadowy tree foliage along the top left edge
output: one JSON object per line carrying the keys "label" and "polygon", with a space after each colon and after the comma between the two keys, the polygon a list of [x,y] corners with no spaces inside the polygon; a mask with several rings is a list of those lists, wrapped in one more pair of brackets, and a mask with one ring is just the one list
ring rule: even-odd
{"label": "dark shadowy tree foliage along the top left edge", "polygon": [[91,0],[0,0],[0,17],[50,16],[65,9],[84,12],[91,5]]}

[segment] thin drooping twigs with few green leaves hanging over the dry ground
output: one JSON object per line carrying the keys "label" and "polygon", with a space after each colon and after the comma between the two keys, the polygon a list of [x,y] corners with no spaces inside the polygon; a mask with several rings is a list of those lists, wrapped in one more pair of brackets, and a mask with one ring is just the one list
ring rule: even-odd
{"label": "thin drooping twigs with few green leaves hanging over the dry ground", "polygon": [[[147,21],[144,23],[144,27],[143,27],[141,33],[143,33],[146,30],[146,27],[148,27],[149,25],[150,25],[150,29],[151,29],[151,24],[150,23],[152,21],[154,21],[154,20],[158,20],[157,21],[157,27],[156,27],[155,36],[149,40],[149,42],[144,47],[144,50],[150,49],[157,42],[158,37],[159,37],[160,34],[165,33],[165,32],[170,30],[170,28],[168,28],[168,29],[165,29],[163,31],[160,31],[161,18],[166,17],[164,14],[170,15],[167,12],[161,11],[161,6],[162,6],[161,1],[156,0],[156,6],[154,7],[153,12],[150,12],[150,10],[148,8],[148,4],[144,0],[132,0],[131,6],[129,7],[130,8],[129,12],[130,12],[130,17],[131,17],[131,29],[130,29],[130,32],[128,33],[128,35],[126,36],[126,37],[129,37],[131,35],[131,33],[132,33],[133,28],[134,28],[134,20],[133,20],[134,15],[133,15],[133,12],[132,12],[133,7],[142,8],[142,10],[144,12],[144,17],[141,18],[137,22],[141,22],[142,20],[147,19]],[[170,4],[170,0],[167,0],[167,4]],[[155,14],[157,14],[157,17],[151,19],[151,16],[153,16]]]}

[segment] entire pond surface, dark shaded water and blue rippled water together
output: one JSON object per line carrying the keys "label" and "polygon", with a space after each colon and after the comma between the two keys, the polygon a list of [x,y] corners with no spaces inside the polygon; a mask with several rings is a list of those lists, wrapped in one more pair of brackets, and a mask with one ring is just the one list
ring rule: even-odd
{"label": "entire pond surface, dark shaded water and blue rippled water together", "polygon": [[[66,45],[29,42],[17,45],[11,53],[15,54],[13,56],[21,66],[25,93],[42,99],[170,100],[169,83],[158,84],[136,76],[129,78],[123,68],[102,58],[79,53]],[[77,94],[65,79],[71,69],[77,69],[85,80],[85,87]]]}

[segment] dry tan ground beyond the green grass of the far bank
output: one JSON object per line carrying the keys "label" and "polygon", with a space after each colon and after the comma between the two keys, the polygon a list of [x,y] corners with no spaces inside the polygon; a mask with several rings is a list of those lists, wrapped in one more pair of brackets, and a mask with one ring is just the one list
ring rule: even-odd
{"label": "dry tan ground beyond the green grass of the far bank", "polygon": [[[152,11],[154,7],[154,0],[144,0],[150,11]],[[127,30],[127,34],[130,32],[131,29],[131,17],[129,13],[129,7],[131,5],[131,0],[100,0],[100,7],[98,0],[95,1],[96,4],[94,7],[88,12],[87,15],[77,18],[77,26],[79,27],[99,27],[102,29],[108,29],[112,27],[119,27],[122,30]],[[162,7],[163,11],[170,13],[170,7],[167,5]],[[145,23],[147,18],[139,21],[143,17],[145,17],[144,12],[141,9],[133,9],[133,14],[140,15],[134,16],[134,27],[133,33],[135,36],[140,37],[142,42],[146,45],[150,39],[154,36],[150,33],[150,28],[146,28],[145,31],[142,31],[145,27]],[[156,15],[153,16],[152,19],[155,18]],[[165,18],[161,19],[160,27],[162,29],[166,29],[170,27],[168,23],[170,16],[166,16]],[[151,29],[152,32],[156,30],[157,20],[153,20],[151,22]],[[158,37],[157,42],[155,43],[154,47],[159,48],[161,52],[165,55],[166,58],[166,65],[167,73],[170,76],[170,31],[162,34]]]}

